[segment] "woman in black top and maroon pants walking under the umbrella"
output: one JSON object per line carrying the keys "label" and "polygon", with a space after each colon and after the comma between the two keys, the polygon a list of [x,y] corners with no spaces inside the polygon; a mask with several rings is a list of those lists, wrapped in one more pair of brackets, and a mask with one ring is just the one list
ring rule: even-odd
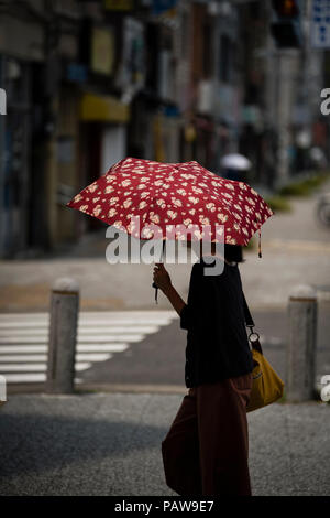
{"label": "woman in black top and maroon pants walking under the umbrella", "polygon": [[167,485],[182,496],[250,496],[246,404],[253,359],[244,322],[239,262],[242,248],[212,244],[224,260],[221,274],[205,274],[204,257],[193,266],[187,304],[164,265],[154,282],[168,298],[187,330],[185,381],[189,389],[162,442]]}

